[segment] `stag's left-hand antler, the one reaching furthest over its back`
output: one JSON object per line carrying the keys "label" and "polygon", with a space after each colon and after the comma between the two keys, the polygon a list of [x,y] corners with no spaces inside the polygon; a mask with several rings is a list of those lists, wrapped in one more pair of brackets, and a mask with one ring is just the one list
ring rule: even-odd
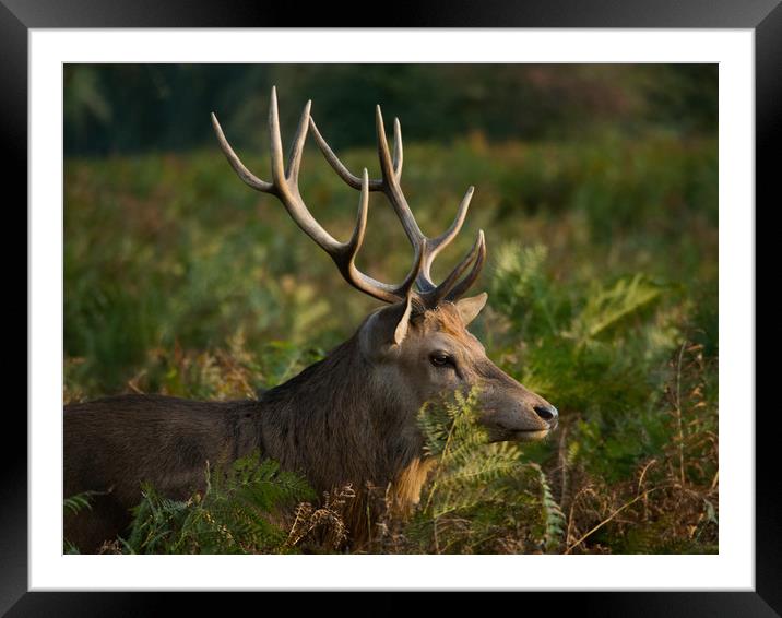
{"label": "stag's left-hand antler, the one reaching furthest over its back", "polygon": [[[269,105],[269,130],[271,134],[270,147],[272,162],[271,182],[261,180],[250,173],[247,167],[245,167],[237,154],[234,152],[234,148],[226,140],[223,129],[217,121],[217,117],[214,114],[212,114],[212,124],[223,153],[239,178],[241,178],[241,180],[244,180],[249,187],[252,187],[258,191],[276,195],[296,225],[298,225],[321,249],[329,254],[329,257],[331,257],[347,283],[369,296],[377,298],[378,300],[383,300],[386,302],[398,302],[403,300],[407,297],[411,286],[420,271],[424,259],[423,243],[418,243],[418,246],[416,246],[413,269],[399,285],[379,282],[360,272],[355,265],[356,254],[364,242],[364,235],[367,226],[369,191],[371,190],[367,170],[364,169],[364,174],[360,179],[356,178],[356,180],[358,180],[357,188],[360,189],[358,215],[353,235],[347,242],[340,242],[325,231],[325,229],[323,229],[323,227],[315,219],[301,199],[298,189],[298,175],[301,165],[301,153],[307,139],[307,131],[311,126],[310,108],[311,102],[307,102],[307,105],[301,112],[301,118],[299,119],[296,135],[291,144],[287,168],[285,168],[283,167],[283,145],[280,131],[277,95],[276,88],[272,87],[272,95]],[[342,174],[340,175],[343,176]]]}

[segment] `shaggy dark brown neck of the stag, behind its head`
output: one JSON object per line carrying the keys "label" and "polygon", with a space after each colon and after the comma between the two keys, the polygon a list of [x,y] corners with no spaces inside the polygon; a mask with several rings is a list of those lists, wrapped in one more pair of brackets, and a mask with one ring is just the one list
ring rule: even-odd
{"label": "shaggy dark brown neck of the stag, behind its head", "polygon": [[420,455],[417,406],[383,382],[358,338],[260,400],[269,455],[320,491],[386,486]]}

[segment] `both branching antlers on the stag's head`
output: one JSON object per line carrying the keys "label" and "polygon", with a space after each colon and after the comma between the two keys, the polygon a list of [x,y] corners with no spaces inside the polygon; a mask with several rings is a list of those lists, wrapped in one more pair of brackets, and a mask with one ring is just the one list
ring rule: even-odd
{"label": "both branching antlers on the stag's head", "polygon": [[[212,114],[212,124],[217,135],[217,140],[220,141],[220,146],[239,178],[241,178],[241,180],[244,180],[249,187],[258,191],[275,195],[283,203],[294,222],[296,222],[296,224],[331,257],[345,281],[365,294],[386,302],[396,302],[407,298],[411,294],[414,294],[413,285],[416,284],[419,290],[417,296],[425,304],[425,306],[435,307],[446,297],[454,299],[466,292],[477,277],[486,257],[486,246],[484,242],[483,230],[478,233],[478,238],[466,258],[462,260],[459,265],[457,265],[451,274],[446,277],[439,286],[431,282],[430,268],[437,253],[439,253],[451,240],[453,240],[464,223],[467,206],[470,205],[470,199],[473,194],[473,188],[470,187],[470,189],[467,189],[467,192],[459,206],[457,218],[451,227],[436,238],[428,238],[420,231],[420,228],[418,227],[418,224],[416,223],[399,185],[399,180],[402,175],[403,158],[402,133],[399,120],[394,122],[394,154],[392,161],[389,153],[388,142],[386,140],[386,131],[383,128],[382,116],[380,114],[380,107],[377,108],[378,151],[380,155],[382,179],[370,180],[366,168],[364,169],[360,178],[354,176],[342,164],[342,162],[340,162],[336,155],[334,155],[332,150],[320,135],[315,121],[310,117],[310,107],[311,102],[307,102],[299,120],[298,129],[296,130],[296,135],[294,136],[291,146],[287,166],[284,166],[282,136],[280,132],[280,116],[277,111],[277,95],[276,88],[272,87],[269,110],[272,161],[271,182],[261,180],[249,171],[247,167],[245,167],[234,152],[234,148],[232,148],[230,144],[225,139],[225,134],[223,133],[223,129],[221,128],[217,118],[214,114]],[[353,230],[351,239],[347,242],[340,242],[325,231],[325,229],[323,229],[323,227],[311,215],[309,209],[307,209],[307,205],[299,193],[298,174],[301,165],[301,152],[307,139],[307,131],[310,127],[312,128],[312,133],[316,136],[318,145],[334,170],[351,187],[360,190],[356,226]],[[415,250],[413,268],[407,273],[404,281],[398,285],[379,282],[360,272],[355,265],[356,254],[364,242],[370,191],[382,191],[387,195],[394,209],[394,212],[402,222],[405,234]],[[457,283],[459,277],[473,261],[474,264],[470,273],[462,281]]]}

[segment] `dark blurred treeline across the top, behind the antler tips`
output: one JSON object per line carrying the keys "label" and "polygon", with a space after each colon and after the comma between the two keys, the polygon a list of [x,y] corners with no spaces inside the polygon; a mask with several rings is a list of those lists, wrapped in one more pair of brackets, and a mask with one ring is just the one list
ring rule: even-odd
{"label": "dark blurred treeline across the top, behind the antler tips", "polygon": [[[66,154],[211,144],[209,112],[232,141],[260,145],[269,88],[293,127],[306,99],[334,147],[375,141],[372,108],[415,140],[578,139],[649,123],[716,128],[713,64],[68,64]],[[288,103],[289,102],[289,103]]]}

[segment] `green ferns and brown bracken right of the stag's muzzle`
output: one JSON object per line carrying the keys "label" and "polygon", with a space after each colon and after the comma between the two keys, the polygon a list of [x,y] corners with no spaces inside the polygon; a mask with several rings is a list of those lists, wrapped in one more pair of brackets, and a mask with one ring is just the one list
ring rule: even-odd
{"label": "green ferns and brown bracken right of the stag's muzzle", "polygon": [[565,413],[566,551],[715,551],[716,358],[688,341],[680,290],[638,273],[557,288],[544,258],[507,248],[494,283],[525,341],[508,360]]}

